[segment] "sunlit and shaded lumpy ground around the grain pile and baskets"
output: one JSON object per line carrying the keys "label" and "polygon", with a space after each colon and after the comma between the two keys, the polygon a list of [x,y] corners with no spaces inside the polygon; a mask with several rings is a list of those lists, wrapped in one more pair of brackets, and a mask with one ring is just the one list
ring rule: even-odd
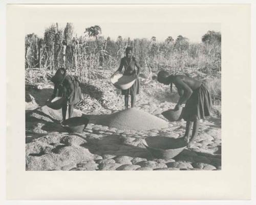
{"label": "sunlit and shaded lumpy ground around the grain pile and baskets", "polygon": [[[221,117],[201,120],[195,147],[173,159],[154,159],[143,145],[146,137],[180,138],[185,121],[168,122],[161,113],[175,104],[168,99],[137,98],[136,109],[166,121],[153,130],[120,130],[100,122],[118,110],[93,113],[75,110],[74,116],[90,117],[82,133],[68,133],[59,123],[61,110],[45,101],[52,87],[26,88],[26,170],[220,170]],[[40,96],[40,97],[39,97]],[[143,123],[147,123],[146,120]]]}

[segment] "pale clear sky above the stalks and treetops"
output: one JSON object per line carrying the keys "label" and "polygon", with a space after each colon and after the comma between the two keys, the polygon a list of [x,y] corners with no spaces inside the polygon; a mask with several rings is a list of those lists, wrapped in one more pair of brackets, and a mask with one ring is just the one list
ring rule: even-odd
{"label": "pale clear sky above the stalks and treetops", "polygon": [[[25,25],[25,34],[36,34],[39,37],[44,37],[45,28],[52,23],[45,22],[31,22]],[[59,28],[65,28],[66,22],[60,22]],[[207,31],[221,32],[220,23],[172,23],[172,22],[73,22],[74,33],[78,36],[84,35],[86,28],[92,25],[99,25],[101,27],[101,36],[110,37],[116,40],[120,35],[122,38],[147,38],[151,39],[155,36],[158,41],[165,40],[166,37],[172,36],[174,39],[178,35],[182,35],[189,39],[190,42],[200,42],[202,36]]]}

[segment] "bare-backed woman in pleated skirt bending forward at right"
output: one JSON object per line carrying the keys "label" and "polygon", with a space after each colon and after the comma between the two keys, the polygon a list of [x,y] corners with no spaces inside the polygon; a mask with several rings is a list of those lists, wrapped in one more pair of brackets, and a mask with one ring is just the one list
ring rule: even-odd
{"label": "bare-backed woman in pleated skirt bending forward at right", "polygon": [[[199,120],[211,115],[210,93],[202,82],[185,75],[169,75],[167,71],[162,70],[158,73],[157,80],[164,85],[170,84],[171,91],[173,84],[178,89],[180,99],[175,107],[176,110],[181,109],[181,105],[185,103],[183,110],[183,119],[186,120],[184,140],[188,143],[187,147],[190,148],[198,133]],[[193,132],[189,140],[192,122]]]}

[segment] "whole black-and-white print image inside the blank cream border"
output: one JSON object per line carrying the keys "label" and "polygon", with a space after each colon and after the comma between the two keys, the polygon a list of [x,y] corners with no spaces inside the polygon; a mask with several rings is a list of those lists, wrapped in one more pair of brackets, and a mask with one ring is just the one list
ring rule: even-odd
{"label": "whole black-and-white print image inside the blank cream border", "polygon": [[221,24],[25,24],[26,171],[221,170]]}

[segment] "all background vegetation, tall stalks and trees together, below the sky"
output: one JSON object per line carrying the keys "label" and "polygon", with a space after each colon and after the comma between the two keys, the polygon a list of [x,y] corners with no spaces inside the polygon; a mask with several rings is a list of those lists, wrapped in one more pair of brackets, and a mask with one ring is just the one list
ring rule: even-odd
{"label": "all background vegetation, tall stalks and trees together, below the sky", "polygon": [[[221,33],[208,31],[202,42],[190,43],[179,35],[167,36],[164,41],[151,39],[117,39],[100,36],[99,25],[88,27],[85,36],[74,34],[72,23],[64,30],[58,24],[46,28],[44,38],[35,34],[25,37],[26,82],[48,81],[56,69],[65,66],[83,83],[97,86],[99,75],[114,71],[119,66],[127,46],[134,48],[134,56],[143,70],[140,75],[142,88],[165,69],[172,74],[187,74],[207,85],[216,102],[221,100]],[[66,46],[63,46],[66,45]],[[63,50],[64,49],[64,50]],[[65,54],[66,58],[63,58]],[[64,60],[63,60],[64,59]],[[63,62],[65,61],[65,62]],[[33,74],[37,70],[40,76]]]}

